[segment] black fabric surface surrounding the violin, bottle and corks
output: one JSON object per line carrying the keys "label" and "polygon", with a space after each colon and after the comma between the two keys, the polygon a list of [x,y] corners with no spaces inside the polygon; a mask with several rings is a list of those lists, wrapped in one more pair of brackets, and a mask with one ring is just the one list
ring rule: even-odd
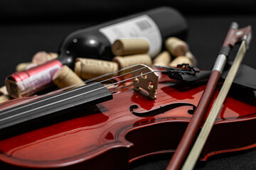
{"label": "black fabric surface surrounding the violin, bottle and corks", "polygon": [[[23,2],[24,1],[25,0],[23,0]],[[4,85],[6,76],[15,72],[16,64],[30,62],[31,57],[36,52],[41,50],[57,52],[60,41],[73,30],[91,26],[107,18],[114,18],[119,15],[122,16],[126,13],[132,13],[133,11],[146,8],[140,1],[124,1],[122,3],[121,1],[112,1],[118,8],[116,6],[111,6],[111,8],[116,9],[117,12],[110,11],[108,8],[109,4],[107,4],[108,1],[100,1],[103,3],[102,6],[98,6],[99,1],[93,1],[93,3],[90,3],[90,6],[87,6],[86,1],[81,2],[74,0],[72,4],[70,4],[70,1],[61,1],[63,4],[61,4],[60,1],[55,1],[59,4],[58,8],[56,7],[58,4],[53,4],[52,6],[45,4],[45,6],[40,5],[37,8],[31,8],[36,5],[31,4],[31,6],[23,6],[18,0],[9,1],[10,4],[5,4],[5,1],[1,1],[0,8],[1,14],[3,14],[1,17],[4,17],[4,21],[8,21],[6,18],[10,18],[10,21],[0,24],[0,86]],[[11,6],[11,2],[15,3],[16,6]],[[38,1],[39,4],[44,4],[44,2],[46,1]],[[82,4],[79,4],[79,2]],[[143,2],[146,3],[149,1]],[[174,7],[182,8],[182,2],[183,1],[180,1],[179,4],[174,3]],[[235,10],[240,8],[242,11],[230,12],[229,14],[223,12],[232,2],[233,6],[231,7],[235,8]],[[202,1],[202,4],[200,4],[198,1],[198,5],[193,4],[192,1],[186,1],[186,3],[191,4],[191,6],[186,6],[186,8],[190,8],[189,11],[186,11],[186,8],[183,10],[189,26],[187,42],[191,52],[198,60],[199,68],[211,69],[230,23],[237,21],[240,27],[247,25],[252,26],[252,42],[243,63],[256,69],[256,36],[254,33],[256,28],[255,1],[246,0],[244,1],[246,3],[239,5],[240,2],[241,1],[225,1],[222,6],[218,6],[218,1],[212,1],[209,4],[206,1]],[[36,1],[33,3],[36,3]],[[132,6],[137,3],[140,5],[132,8]],[[158,5],[164,3],[171,4],[171,2],[160,1]],[[73,5],[73,9],[77,8],[79,10],[74,12],[70,9],[69,11],[69,5]],[[129,6],[129,9],[122,11],[126,6]],[[147,8],[151,8],[152,6],[154,6],[153,2],[149,4]],[[9,11],[8,8],[11,8],[11,11]],[[193,8],[193,10],[191,10],[191,8]],[[96,12],[95,16],[99,17],[96,17],[97,19],[86,16],[87,12],[93,13],[94,10],[97,12],[110,12],[110,15],[105,17],[103,17],[103,15],[101,17],[97,16]],[[119,14],[119,11],[122,12]],[[193,13],[193,11],[196,12]],[[202,11],[202,14],[200,14],[200,11]],[[232,11],[232,8],[228,8],[228,11]],[[75,14],[68,14],[72,12]],[[210,14],[211,12],[213,12],[213,14]],[[86,18],[81,19],[81,16],[79,16],[76,19],[76,15],[79,13],[82,13]],[[49,18],[49,20],[45,18],[45,16],[48,17],[51,15],[54,16]],[[63,18],[60,19],[60,22],[53,22],[55,18],[61,16],[63,16]],[[67,21],[65,21],[66,16],[68,16]],[[72,18],[71,16],[74,20],[69,20]],[[23,18],[26,22],[18,21],[17,18]],[[44,22],[40,22],[38,19]],[[33,22],[33,20],[36,22]],[[231,58],[233,55],[234,52]],[[142,159],[139,162],[134,162],[134,164],[131,165],[131,169],[165,169],[169,162],[169,157],[170,155]],[[198,164],[196,169],[256,169],[256,151],[252,149],[246,152],[213,157],[206,163]]]}

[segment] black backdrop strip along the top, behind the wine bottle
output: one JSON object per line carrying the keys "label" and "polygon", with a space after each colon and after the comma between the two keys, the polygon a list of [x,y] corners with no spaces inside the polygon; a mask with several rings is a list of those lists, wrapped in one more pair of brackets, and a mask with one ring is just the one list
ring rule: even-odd
{"label": "black backdrop strip along the top, behind the wine bottle", "polygon": [[0,1],[0,18],[33,21],[98,20],[157,6],[172,6],[184,14],[252,14],[254,0],[9,0]]}

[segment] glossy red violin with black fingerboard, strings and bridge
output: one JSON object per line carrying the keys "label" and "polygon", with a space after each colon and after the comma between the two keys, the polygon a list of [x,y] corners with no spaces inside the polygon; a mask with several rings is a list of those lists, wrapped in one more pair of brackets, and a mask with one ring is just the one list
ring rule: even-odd
{"label": "glossy red violin with black fingerboard, strings and bridge", "polygon": [[[106,86],[92,79],[75,89],[1,103],[1,167],[129,169],[144,157],[174,153],[209,77],[187,64],[180,67],[139,64]],[[222,85],[216,84],[210,107]],[[255,90],[233,86],[199,159],[254,148],[255,114]]]}

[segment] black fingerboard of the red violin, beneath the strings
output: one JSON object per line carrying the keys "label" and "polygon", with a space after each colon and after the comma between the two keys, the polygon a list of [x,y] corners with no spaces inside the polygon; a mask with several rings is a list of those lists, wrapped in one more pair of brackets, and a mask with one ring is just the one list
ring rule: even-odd
{"label": "black fingerboard of the red violin, beneath the strings", "polygon": [[16,125],[33,123],[38,118],[53,118],[60,111],[83,104],[92,106],[112,99],[112,93],[101,83],[79,86],[52,96],[32,101],[0,112],[0,133],[8,132]]}

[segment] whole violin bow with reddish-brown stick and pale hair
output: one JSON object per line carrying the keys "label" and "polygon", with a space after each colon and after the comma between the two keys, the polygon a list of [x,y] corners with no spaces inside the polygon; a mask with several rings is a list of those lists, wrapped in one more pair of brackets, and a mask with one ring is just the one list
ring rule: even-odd
{"label": "whole violin bow with reddish-brown stick and pale hair", "polygon": [[[183,133],[183,137],[181,137],[181,141],[178,144],[178,147],[176,148],[176,152],[174,152],[173,157],[171,158],[171,161],[169,162],[169,165],[167,166],[166,169],[168,170],[174,170],[174,169],[181,169],[181,166],[183,164],[183,162],[185,161],[189,150],[191,149],[192,145],[193,145],[193,141],[196,138],[196,135],[198,133],[198,129],[201,126],[201,123],[203,122],[203,118],[205,117],[207,111],[208,111],[208,106],[210,104],[210,101],[213,97],[213,94],[215,92],[215,88],[218,84],[218,80],[220,79],[220,74],[222,74],[223,69],[225,67],[225,63],[227,62],[227,58],[228,55],[230,54],[230,50],[232,50],[232,47],[237,43],[240,42],[242,40],[242,43],[240,45],[240,49],[238,50],[238,55],[237,57],[239,58],[237,64],[234,64],[234,67],[231,67],[231,69],[234,69],[232,76],[229,76],[230,78],[226,78],[226,80],[228,79],[228,85],[225,85],[225,90],[229,90],[230,86],[233,82],[233,77],[235,77],[236,74],[236,67],[239,67],[240,62],[242,61],[242,57],[245,54],[245,51],[247,49],[247,47],[249,47],[249,43],[250,43],[250,39],[251,39],[251,27],[247,26],[245,28],[240,28],[238,29],[238,23],[233,22],[230,26],[230,29],[228,30],[228,34],[225,37],[225,40],[223,42],[223,46],[220,48],[220,52],[218,57],[215,60],[215,64],[213,65],[213,69],[211,71],[210,74],[210,78],[208,79],[208,83],[206,84],[206,89],[203,92],[203,95],[201,97],[201,100],[198,103],[198,106],[196,108],[195,113],[193,113],[193,116],[191,118],[190,123],[188,123],[188,126],[185,130],[185,132]],[[235,61],[237,60],[237,57],[235,57]],[[224,87],[224,84],[223,84]],[[223,92],[220,91],[220,94],[222,94]],[[228,92],[225,92],[228,93]],[[225,94],[226,95],[226,94]],[[224,101],[225,99],[225,95],[222,96],[221,101],[219,101],[215,106],[215,110],[211,111],[214,112],[216,115],[218,115],[218,111],[220,111],[221,105],[220,103]],[[218,99],[219,100],[219,99]],[[218,101],[216,99],[216,101]],[[218,111],[216,111],[218,110]],[[216,113],[217,112],[217,113]],[[208,116],[209,117],[209,116]],[[213,118],[209,118],[211,119],[211,121],[214,123],[215,118],[213,116]],[[208,120],[210,121],[210,120]],[[206,125],[206,123],[205,123]],[[204,125],[204,126],[205,126]],[[208,131],[210,132],[211,128],[210,125],[208,126]],[[208,135],[206,134],[202,134],[201,136],[205,136],[206,139],[208,137]],[[199,140],[199,138],[198,138]],[[201,148],[203,149],[203,142],[199,142],[201,145]],[[194,147],[194,150],[198,149],[197,147]],[[194,164],[196,164],[196,161],[199,157],[199,154],[201,154],[201,150],[198,150],[198,157],[195,156],[194,154],[195,152],[193,152],[192,154],[190,154],[190,159],[188,160],[188,162],[186,161],[186,166],[184,164],[183,169],[188,169],[191,168],[193,169],[193,166],[191,164],[191,159],[194,159],[193,161],[195,162]]]}

